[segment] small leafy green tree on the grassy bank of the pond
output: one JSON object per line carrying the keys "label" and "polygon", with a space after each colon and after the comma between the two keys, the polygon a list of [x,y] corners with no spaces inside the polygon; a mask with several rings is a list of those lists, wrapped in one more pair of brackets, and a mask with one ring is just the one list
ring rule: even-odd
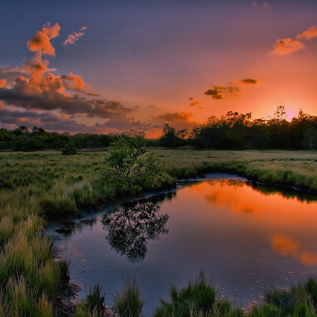
{"label": "small leafy green tree on the grassy bank of the pond", "polygon": [[102,179],[117,179],[121,192],[135,194],[145,188],[159,187],[168,178],[162,162],[146,152],[143,134],[120,135],[109,149],[105,158],[107,167],[100,171]]}

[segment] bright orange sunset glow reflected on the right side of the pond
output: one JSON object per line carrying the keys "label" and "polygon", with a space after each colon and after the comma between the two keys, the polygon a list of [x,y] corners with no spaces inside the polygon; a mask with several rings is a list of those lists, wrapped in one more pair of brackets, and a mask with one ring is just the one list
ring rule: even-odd
{"label": "bright orange sunset glow reflected on the right side of the pond", "polygon": [[[305,264],[317,264],[316,202],[308,204],[296,197],[255,190],[249,184],[232,180],[205,181],[191,190],[222,210],[218,219],[225,217],[226,226],[243,222],[246,230],[261,232],[259,237],[268,239],[274,252]],[[230,211],[227,214],[226,209]]]}

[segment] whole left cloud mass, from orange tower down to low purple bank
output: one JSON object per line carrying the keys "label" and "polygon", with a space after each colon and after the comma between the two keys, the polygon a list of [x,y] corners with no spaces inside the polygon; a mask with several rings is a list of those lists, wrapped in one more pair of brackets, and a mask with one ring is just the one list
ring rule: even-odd
{"label": "whole left cloud mass, from orange tower down to low purple bank", "polygon": [[[87,29],[87,27],[84,27]],[[6,127],[42,126],[48,131],[76,133],[122,133],[132,128],[152,129],[151,122],[140,122],[120,101],[98,98],[80,75],[56,76],[48,68],[45,55],[55,56],[50,40],[58,36],[60,26],[44,25],[27,43],[35,52],[23,67],[0,67],[0,122]],[[10,79],[10,87],[4,87]],[[2,101],[1,101],[2,100]],[[21,110],[21,108],[23,110]],[[104,119],[93,126],[79,123],[87,118]],[[79,122],[78,122],[79,121]]]}

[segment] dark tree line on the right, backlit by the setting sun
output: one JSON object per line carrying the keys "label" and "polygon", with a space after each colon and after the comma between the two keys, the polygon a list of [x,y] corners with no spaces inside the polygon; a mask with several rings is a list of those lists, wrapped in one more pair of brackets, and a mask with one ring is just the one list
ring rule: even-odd
{"label": "dark tree line on the right, backlit by the setting sun", "polygon": [[278,106],[273,118],[254,119],[251,113],[229,111],[217,118],[211,116],[192,131],[180,130],[165,124],[160,145],[177,148],[252,150],[252,149],[316,149],[317,116],[304,113],[286,120],[285,109]]}

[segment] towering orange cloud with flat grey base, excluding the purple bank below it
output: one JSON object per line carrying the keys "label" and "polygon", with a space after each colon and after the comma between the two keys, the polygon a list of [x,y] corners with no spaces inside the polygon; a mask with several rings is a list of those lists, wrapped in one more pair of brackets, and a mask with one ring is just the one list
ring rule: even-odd
{"label": "towering orange cloud with flat grey base, excluding the purple bank below it", "polygon": [[[82,96],[82,94],[94,97],[99,95],[89,92],[91,87],[80,76],[73,73],[62,76],[47,73],[49,61],[42,60],[42,54],[46,54],[45,52],[53,54],[54,48],[46,49],[51,45],[50,42],[46,40],[36,42],[35,38],[47,36],[50,41],[50,38],[57,36],[59,29],[57,23],[52,28],[49,28],[48,23],[43,27],[42,32],[36,32],[36,35],[28,41],[29,49],[32,48],[36,54],[24,69],[27,76],[17,76],[10,88],[0,88],[0,100],[7,105],[25,109],[58,110],[60,113],[70,115],[86,114],[88,117],[105,119],[125,117],[132,110],[117,100],[88,99]],[[6,71],[4,68],[2,70]],[[76,94],[67,94],[67,91]]]}

